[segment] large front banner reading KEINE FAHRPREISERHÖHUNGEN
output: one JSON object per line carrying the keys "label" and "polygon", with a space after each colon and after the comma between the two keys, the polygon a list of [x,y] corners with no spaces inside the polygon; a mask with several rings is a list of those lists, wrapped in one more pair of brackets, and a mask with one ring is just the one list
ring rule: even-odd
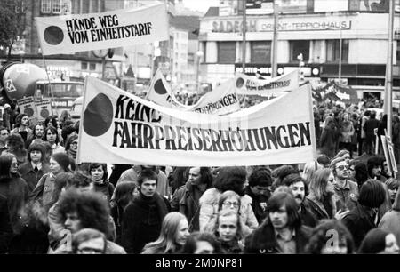
{"label": "large front banner reading KEINE FAHRPREISERH\u00d6HUNGEN", "polygon": [[232,116],[182,112],[88,76],[77,162],[232,166],[316,159],[309,84],[260,105]]}

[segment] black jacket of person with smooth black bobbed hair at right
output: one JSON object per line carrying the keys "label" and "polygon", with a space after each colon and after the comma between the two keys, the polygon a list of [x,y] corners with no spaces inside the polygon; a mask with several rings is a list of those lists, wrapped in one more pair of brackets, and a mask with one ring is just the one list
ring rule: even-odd
{"label": "black jacket of person with smooth black bobbed hair at right", "polygon": [[356,248],[360,246],[368,231],[377,227],[368,212],[367,207],[358,204],[341,220],[353,236]]}

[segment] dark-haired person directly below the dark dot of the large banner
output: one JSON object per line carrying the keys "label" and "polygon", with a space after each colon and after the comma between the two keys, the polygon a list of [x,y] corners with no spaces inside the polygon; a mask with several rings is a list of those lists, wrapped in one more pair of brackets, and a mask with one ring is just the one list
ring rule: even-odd
{"label": "dark-haired person directly below the dark dot of the large banner", "polygon": [[93,190],[101,193],[109,203],[114,193],[114,185],[108,181],[107,164],[90,164],[89,172],[92,178]]}

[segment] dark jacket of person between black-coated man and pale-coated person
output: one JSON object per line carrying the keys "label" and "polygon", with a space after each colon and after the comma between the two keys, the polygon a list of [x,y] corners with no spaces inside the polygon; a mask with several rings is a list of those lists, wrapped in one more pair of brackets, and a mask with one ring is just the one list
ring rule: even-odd
{"label": "dark jacket of person between black-coated man and pale-coated person", "polygon": [[172,212],[180,212],[186,216],[189,224],[189,231],[199,230],[200,204],[199,199],[204,192],[196,185],[186,182],[185,185],[177,188],[171,199]]}

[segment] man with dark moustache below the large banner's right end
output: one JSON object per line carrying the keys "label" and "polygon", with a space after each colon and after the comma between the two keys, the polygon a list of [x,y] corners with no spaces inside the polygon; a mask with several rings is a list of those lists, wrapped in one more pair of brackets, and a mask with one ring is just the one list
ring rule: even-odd
{"label": "man with dark moustache below the large banner's right end", "polygon": [[284,185],[292,190],[294,200],[299,204],[299,214],[304,226],[316,227],[316,219],[309,211],[306,196],[308,195],[308,186],[306,181],[299,174],[290,174],[284,178]]}

